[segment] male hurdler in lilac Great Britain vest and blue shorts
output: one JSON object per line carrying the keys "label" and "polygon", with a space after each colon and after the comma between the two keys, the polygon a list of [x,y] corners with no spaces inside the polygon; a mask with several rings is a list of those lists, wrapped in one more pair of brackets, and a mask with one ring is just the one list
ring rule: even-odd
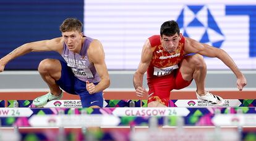
{"label": "male hurdler in lilac Great Britain vest and blue shorts", "polygon": [[[64,60],[46,58],[38,71],[49,86],[48,94],[33,100],[43,107],[62,98],[62,90],[80,96],[82,107],[103,107],[103,90],[109,87],[109,75],[101,42],[82,33],[82,23],[67,18],[60,26],[62,37],[23,44],[0,60],[0,72],[12,59],[29,52],[56,51]],[[62,89],[62,90],[61,90]]]}

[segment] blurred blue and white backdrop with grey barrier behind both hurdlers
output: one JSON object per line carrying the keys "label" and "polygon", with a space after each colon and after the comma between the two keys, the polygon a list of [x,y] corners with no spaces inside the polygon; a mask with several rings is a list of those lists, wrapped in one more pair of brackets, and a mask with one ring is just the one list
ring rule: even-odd
{"label": "blurred blue and white backdrop with grey barrier behind both hurdlers", "polygon": [[[226,50],[247,76],[247,87],[254,89],[255,10],[253,0],[1,0],[0,58],[26,42],[61,36],[59,25],[75,17],[83,22],[86,36],[103,44],[110,88],[132,89],[132,75],[143,43],[151,35],[160,34],[163,22],[176,20],[184,36]],[[12,60],[0,74],[0,89],[47,88],[35,72],[44,58],[61,57],[55,52],[32,52]],[[205,61],[209,70],[207,87],[236,88],[236,78],[227,66],[216,58],[205,57]]]}

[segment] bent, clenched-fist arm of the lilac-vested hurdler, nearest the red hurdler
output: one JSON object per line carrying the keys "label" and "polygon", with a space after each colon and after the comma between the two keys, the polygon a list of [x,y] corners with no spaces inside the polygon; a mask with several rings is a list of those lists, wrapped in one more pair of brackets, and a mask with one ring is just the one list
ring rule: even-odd
{"label": "bent, clenched-fist arm of the lilac-vested hurdler, nearest the red hurdler", "polygon": [[96,86],[87,81],[87,91],[90,94],[94,94],[96,92],[105,90],[110,84],[108,70],[105,63],[105,53],[101,42],[98,40],[93,40],[89,49],[87,50],[87,54],[90,62],[93,63],[98,75],[101,78],[100,83],[98,83]]}

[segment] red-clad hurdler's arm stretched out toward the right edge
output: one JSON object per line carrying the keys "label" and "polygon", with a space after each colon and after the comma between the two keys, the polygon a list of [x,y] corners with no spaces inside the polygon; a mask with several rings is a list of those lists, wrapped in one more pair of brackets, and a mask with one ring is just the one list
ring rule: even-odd
{"label": "red-clad hurdler's arm stretched out toward the right edge", "polygon": [[237,67],[234,60],[223,49],[218,49],[217,47],[213,47],[208,44],[202,44],[194,39],[186,38],[185,51],[186,53],[197,53],[207,57],[219,58],[236,75],[237,88],[239,91],[242,91],[243,87],[247,84],[247,80]]}

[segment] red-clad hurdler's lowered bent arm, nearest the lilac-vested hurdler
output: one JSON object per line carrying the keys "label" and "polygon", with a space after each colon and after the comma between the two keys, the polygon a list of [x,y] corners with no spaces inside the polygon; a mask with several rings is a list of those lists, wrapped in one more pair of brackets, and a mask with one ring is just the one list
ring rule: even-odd
{"label": "red-clad hurdler's lowered bent arm, nearest the lilac-vested hurdler", "polygon": [[139,67],[134,73],[134,88],[136,90],[137,96],[139,97],[147,94],[147,91],[142,86],[143,75],[147,71],[148,66],[150,65],[152,55],[153,51],[151,50],[150,41],[147,39],[142,49],[142,57],[140,59]]}

